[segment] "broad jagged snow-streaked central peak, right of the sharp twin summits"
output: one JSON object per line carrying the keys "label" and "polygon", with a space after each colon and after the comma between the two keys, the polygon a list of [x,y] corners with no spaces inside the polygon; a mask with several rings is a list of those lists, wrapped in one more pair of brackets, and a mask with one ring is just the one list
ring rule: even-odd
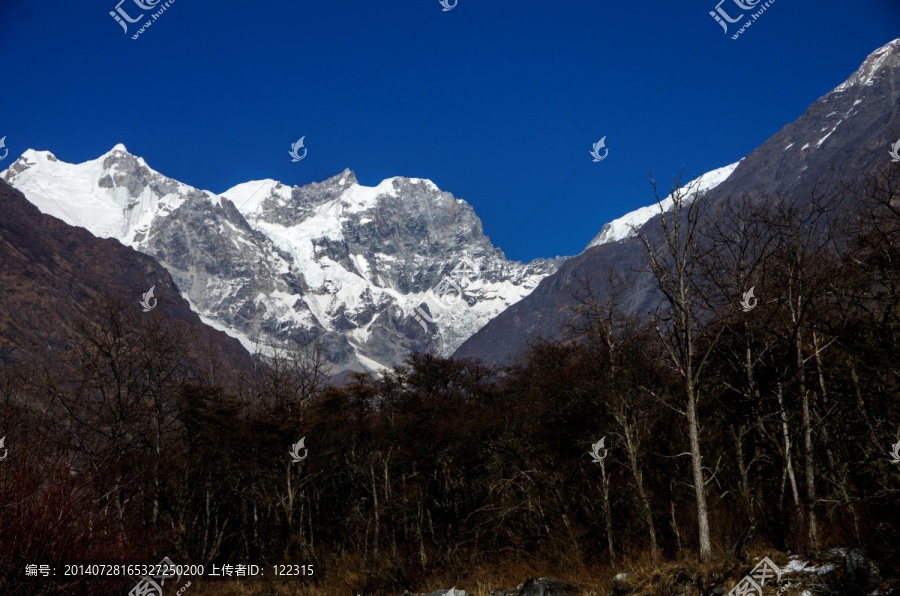
{"label": "broad jagged snow-streaked central peak, right of the sharp twin summits", "polygon": [[[316,320],[350,346],[366,343],[362,355],[380,363],[398,362],[411,349],[452,353],[561,262],[506,260],[472,207],[428,180],[363,187],[345,170],[302,188],[253,182],[223,196],[243,205],[250,225],[299,264]],[[428,292],[462,260],[477,265],[479,279],[438,319]],[[435,319],[424,327],[416,318],[423,303]]]}

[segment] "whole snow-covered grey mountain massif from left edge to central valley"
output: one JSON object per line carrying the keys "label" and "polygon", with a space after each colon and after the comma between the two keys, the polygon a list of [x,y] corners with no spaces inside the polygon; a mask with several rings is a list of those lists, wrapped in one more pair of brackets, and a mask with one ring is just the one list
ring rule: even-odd
{"label": "whole snow-covered grey mountain massif from left edge to central valley", "polygon": [[344,170],[216,194],[121,144],[79,164],[28,150],[0,176],[42,212],[155,257],[206,323],[248,349],[320,338],[338,369],[449,355],[564,260],[507,260],[468,203],[416,178],[368,187]]}

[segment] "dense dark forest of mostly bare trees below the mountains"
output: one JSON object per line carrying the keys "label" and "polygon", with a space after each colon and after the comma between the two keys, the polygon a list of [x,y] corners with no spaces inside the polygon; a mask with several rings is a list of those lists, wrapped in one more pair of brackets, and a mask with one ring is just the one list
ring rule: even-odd
{"label": "dense dark forest of mostly bare trees below the mountains", "polygon": [[127,592],[24,569],[162,557],[313,565],[293,585],[342,595],[834,547],[890,575],[900,167],[862,178],[715,204],[675,182],[644,268],[579,280],[508,366],[417,353],[337,385],[312,343],[224,384],[108,296],[65,354],[0,371],[0,592]]}

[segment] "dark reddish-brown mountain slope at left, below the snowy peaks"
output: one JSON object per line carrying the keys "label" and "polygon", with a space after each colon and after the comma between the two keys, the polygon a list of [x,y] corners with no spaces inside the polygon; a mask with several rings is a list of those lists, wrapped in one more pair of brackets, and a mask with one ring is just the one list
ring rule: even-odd
{"label": "dark reddish-brown mountain slope at left, below the snowy peaks", "polygon": [[[151,286],[158,303],[143,313],[139,301]],[[165,317],[223,365],[223,380],[252,366],[237,340],[191,311],[156,260],[42,214],[0,180],[0,358],[65,361],[79,321],[96,321],[97,305],[109,299],[141,316]]]}

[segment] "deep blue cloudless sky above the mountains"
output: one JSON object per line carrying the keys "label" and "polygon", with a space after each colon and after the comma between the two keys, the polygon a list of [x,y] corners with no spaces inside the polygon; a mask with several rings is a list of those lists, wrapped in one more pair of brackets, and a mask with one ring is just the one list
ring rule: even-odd
{"label": "deep blue cloudless sky above the mountains", "polygon": [[896,0],[776,0],[737,40],[716,1],[175,0],[132,40],[118,0],[2,0],[0,169],[122,142],[215,192],[430,178],[510,258],[577,254],[651,202],[648,172],[737,161],[900,37]]}

